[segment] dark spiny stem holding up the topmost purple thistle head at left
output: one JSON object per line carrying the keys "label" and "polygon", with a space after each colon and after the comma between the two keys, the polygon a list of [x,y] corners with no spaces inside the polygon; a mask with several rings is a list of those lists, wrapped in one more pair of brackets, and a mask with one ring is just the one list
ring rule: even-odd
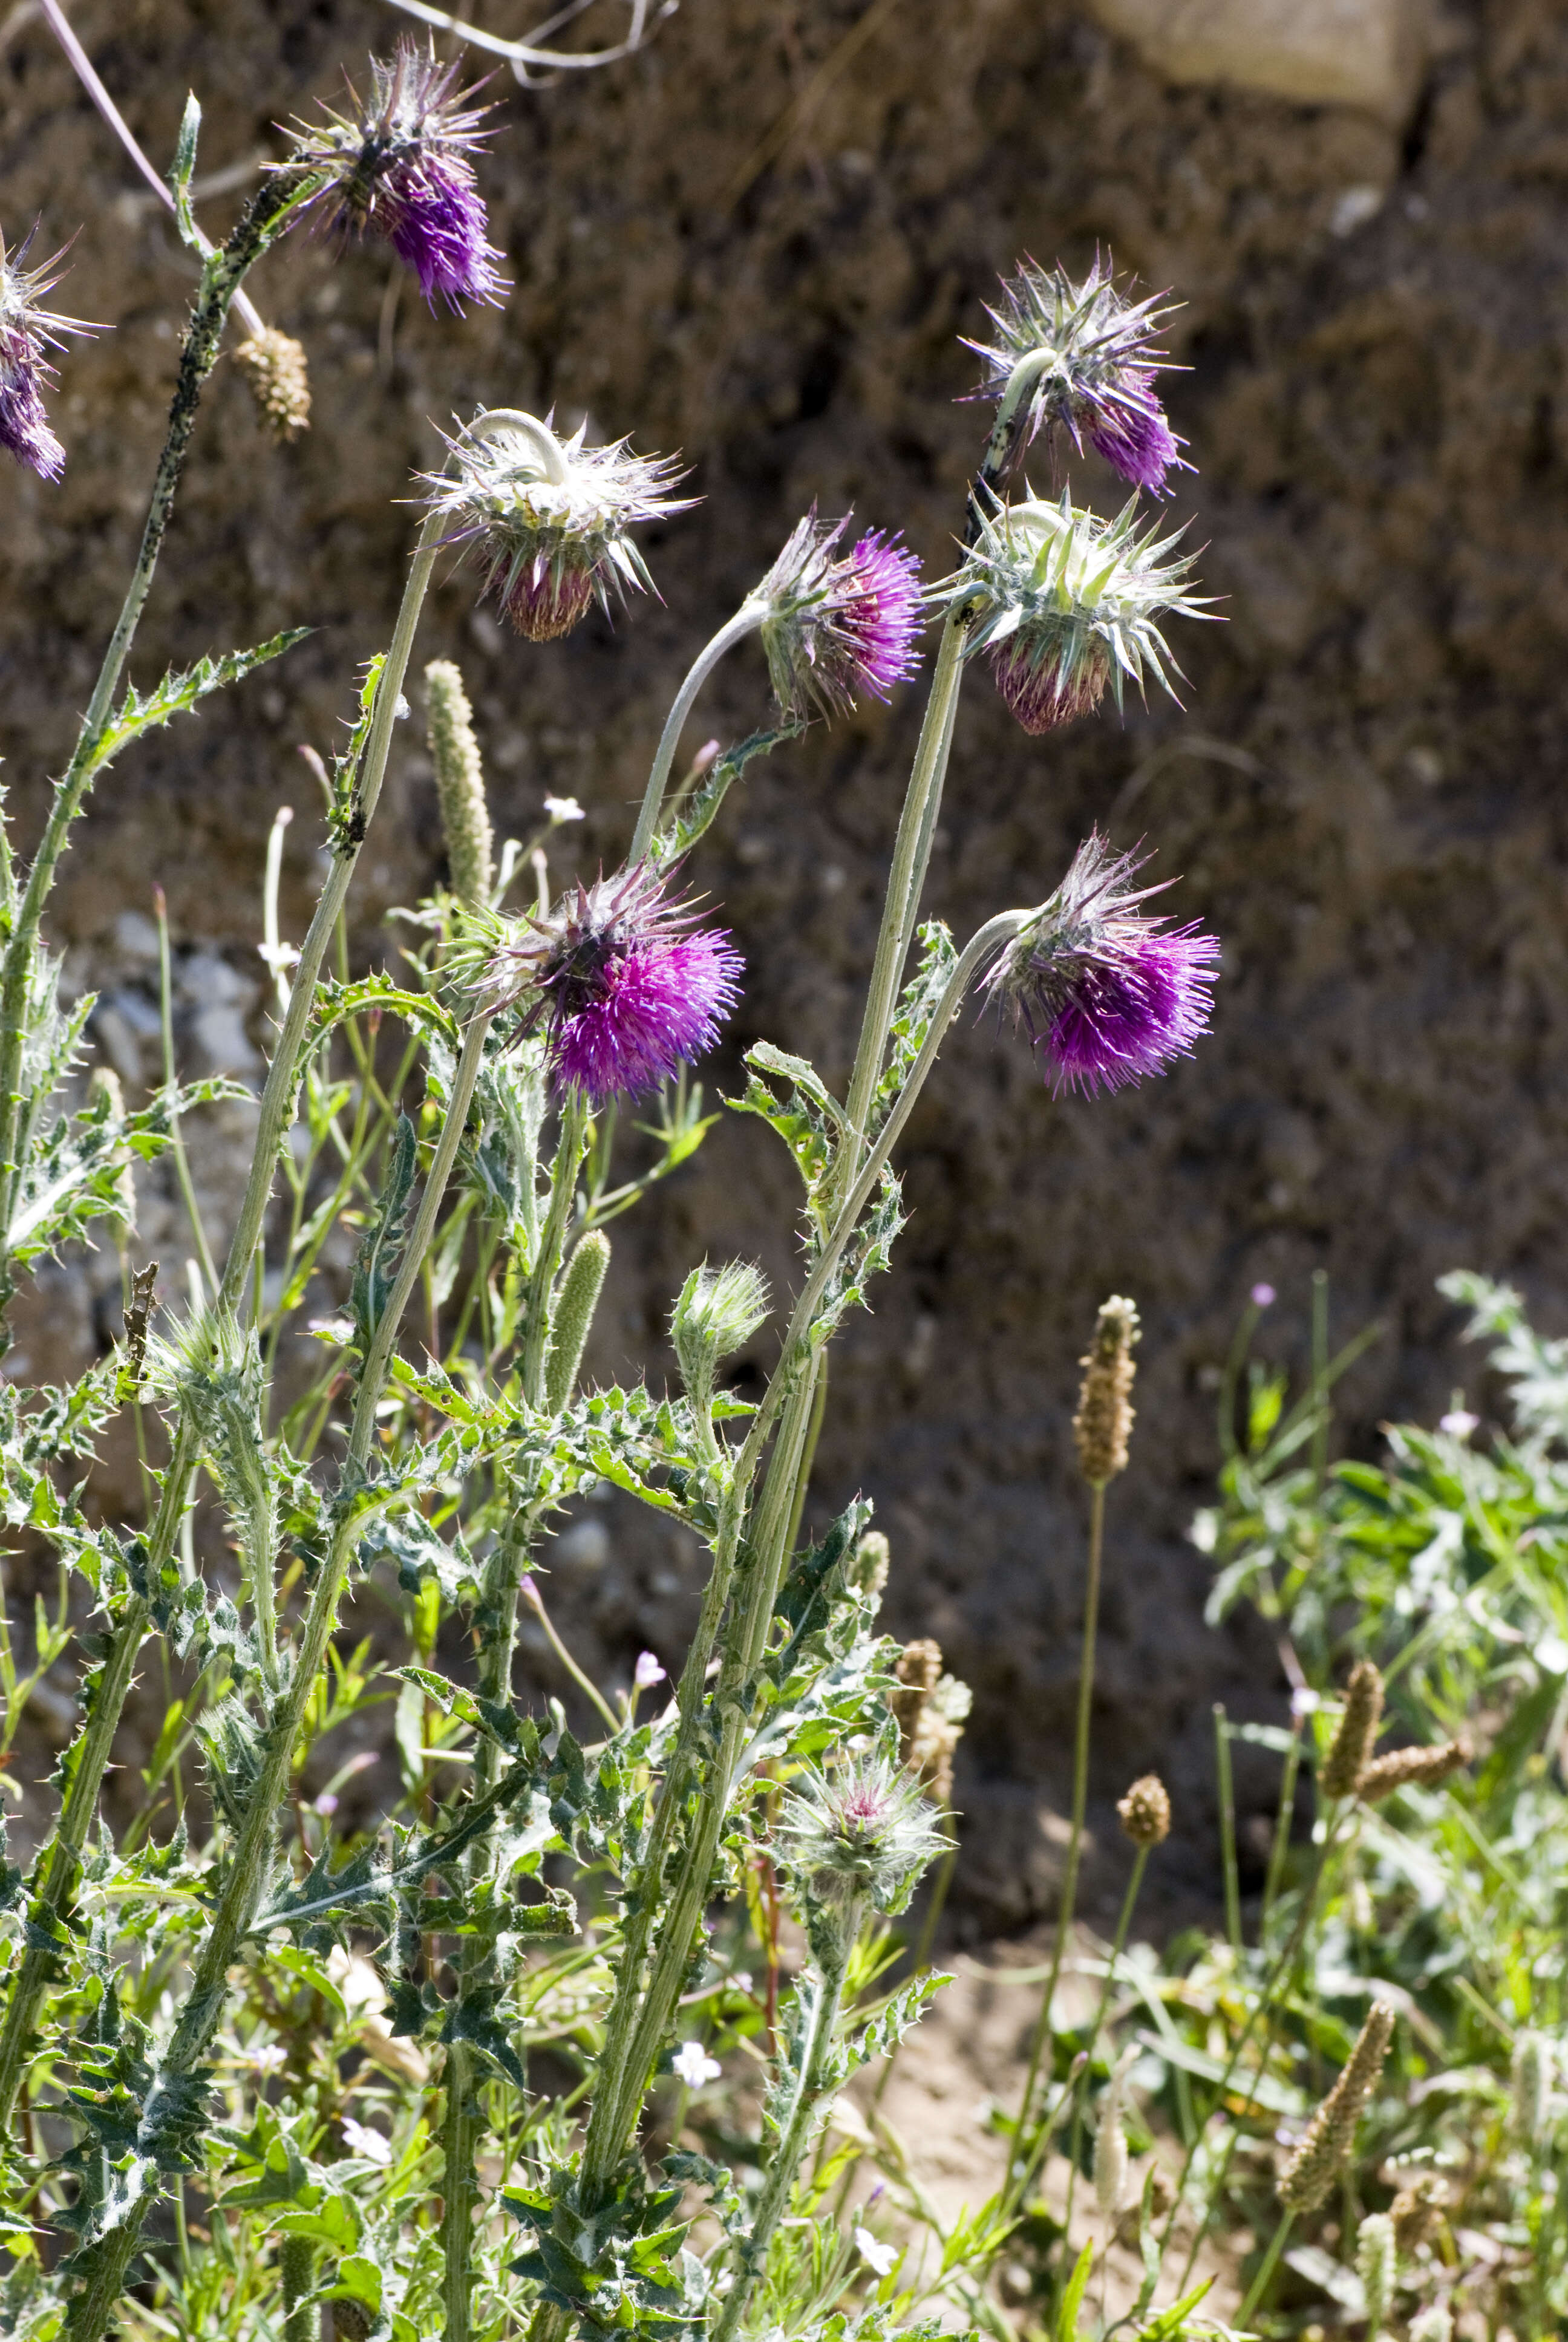
{"label": "dark spiny stem holding up the topmost purple thistle head at left", "polygon": [[202,290],[197,293],[197,307],[180,351],[180,372],[173,389],[173,405],[169,408],[169,436],[164,438],[164,452],[157,459],[152,499],[143,522],[131,583],[120,607],[120,618],[115,621],[108,651],[103,653],[103,665],[98,667],[98,682],[94,684],[94,693],[87,703],[87,714],[77,728],[70,763],[66,766],[63,780],[54,787],[49,820],[38,852],[33,855],[33,869],[28,871],[28,885],[16,913],[16,927],[5,953],[5,981],[0,984],[0,1180],[5,1183],[7,1227],[12,1223],[16,1178],[21,1171],[21,1166],[12,1162],[12,1155],[16,1150],[16,1110],[21,1103],[19,1082],[21,1054],[26,1045],[28,988],[33,981],[33,953],[38,949],[38,927],[45,916],[45,902],[49,899],[54,871],[61,852],[66,850],[70,824],[82,810],[82,801],[87,799],[94,773],[101,763],[105,733],[110,731],[115,689],[131,651],[143,604],[152,588],[152,571],[157,569],[157,555],[169,529],[180,471],[185,468],[185,450],[190,447],[190,433],[202,400],[202,384],[218,363],[230,304],[246,269],[260,260],[270,244],[277,241],[293,211],[309,199],[314,187],[314,176],[302,178],[298,173],[279,173],[270,178],[246,206],[244,218],[223,251],[213,253],[202,267]]}

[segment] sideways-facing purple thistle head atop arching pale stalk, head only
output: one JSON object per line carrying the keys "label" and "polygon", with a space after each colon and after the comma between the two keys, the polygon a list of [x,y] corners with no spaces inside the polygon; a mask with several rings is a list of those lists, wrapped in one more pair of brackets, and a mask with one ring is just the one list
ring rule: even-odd
{"label": "sideways-facing purple thistle head atop arching pale stalk, head only", "polygon": [[863,691],[886,700],[916,667],[921,564],[881,529],[837,553],[846,527],[848,515],[818,520],[813,506],[750,597],[769,607],[762,649],[788,717],[813,700],[846,714]]}

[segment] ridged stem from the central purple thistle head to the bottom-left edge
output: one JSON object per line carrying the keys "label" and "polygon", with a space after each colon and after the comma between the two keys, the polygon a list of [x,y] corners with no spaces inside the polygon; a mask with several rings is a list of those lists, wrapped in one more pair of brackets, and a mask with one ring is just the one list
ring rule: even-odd
{"label": "ridged stem from the central purple thistle head to the bottom-left edge", "polygon": [[[469,1119],[469,1103],[473,1098],[473,1084],[478,1080],[478,1068],[485,1049],[485,1033],[490,1028],[490,1014],[478,1014],[464,1038],[462,1056],[457,1061],[457,1075],[452,1080],[452,1098],[448,1105],[448,1117],[436,1143],[436,1155],[424,1183],[424,1194],[420,1199],[420,1211],[415,1215],[413,1232],[408,1237],[408,1248],[398,1267],[396,1283],[387,1300],[375,1335],[370,1337],[370,1349],[366,1354],[363,1375],[359,1384],[359,1398],[354,1403],[354,1422],[349,1426],[349,1450],[342,1473],[345,1504],[340,1511],[338,1529],[333,1534],[330,1555],[321,1576],[316,1579],[316,1590],[312,1593],[309,1611],[305,1616],[305,1630],[300,1635],[298,1651],[293,1653],[293,1670],[288,1677],[288,1689],[277,1703],[277,1710],[267,1724],[263,1742],[263,1764],[251,1792],[251,1803],[246,1808],[244,1824],[234,1841],[234,1853],[230,1857],[227,1876],[223,1881],[223,1892],[213,1911],[213,1920],[202,1946],[202,1956],[195,1967],[190,1984],[190,1995],[180,2009],[180,2019],[173,2028],[173,2038],[164,2054],[159,2080],[143,2108],[138,2136],[145,2138],[157,2131],[159,2117],[164,2112],[164,2096],[171,2094],[171,2084],[178,2089],[195,2068],[206,2056],[213,2033],[223,2019],[223,2005],[227,1998],[227,1972],[237,1958],[251,1923],[255,1918],[255,1904],[265,1888],[267,1874],[272,1869],[272,1836],[277,1829],[277,1815],[288,1792],[288,1775],[293,1766],[293,1749],[300,1738],[300,1724],[305,1719],[305,1707],[314,1691],[321,1663],[326,1658],[326,1646],[338,1625],[338,1600],[349,1574],[349,1560],[354,1555],[356,1532],[361,1529],[366,1513],[354,1506],[356,1487],[363,1487],[363,1473],[370,1461],[370,1447],[375,1443],[375,1410],[380,1405],[382,1389],[387,1384],[387,1370],[391,1365],[391,1349],[396,1333],[408,1307],[408,1297],[415,1288],[424,1255],[429,1251],[431,1237],[436,1232],[436,1218],[441,1213],[441,1201],[445,1197],[448,1178],[452,1176],[452,1164],[457,1159],[457,1148],[462,1141],[464,1122]],[[396,1494],[396,1485],[389,1482],[387,1494]],[[70,2302],[68,2333],[73,2342],[98,2342],[115,2314],[115,2302],[124,2290],[131,2262],[141,2248],[141,2230],[150,2209],[150,2197],[143,2197],[120,2227],[110,2230],[96,2246],[82,2255],[82,2290]]]}

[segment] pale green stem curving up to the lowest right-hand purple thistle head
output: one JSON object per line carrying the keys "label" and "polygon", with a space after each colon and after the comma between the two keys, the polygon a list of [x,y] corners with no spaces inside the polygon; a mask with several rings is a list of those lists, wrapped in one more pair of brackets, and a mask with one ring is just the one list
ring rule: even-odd
{"label": "pale green stem curving up to the lowest right-hand purple thistle head", "polygon": [[[713,1874],[713,1857],[720,1843],[720,1831],[724,1827],[724,1813],[729,1808],[729,1796],[734,1789],[736,1761],[743,1745],[745,1731],[745,1707],[741,1693],[745,1679],[757,1668],[762,1649],[766,1642],[769,1621],[773,1616],[773,1604],[778,1600],[778,1581],[783,1574],[783,1543],[790,1525],[795,1482],[799,1473],[802,1447],[811,1426],[811,1401],[816,1382],[816,1351],[811,1344],[811,1328],[816,1321],[818,1304],[827,1283],[839,1267],[844,1246],[860,1223],[872,1190],[881,1176],[881,1169],[893,1152],[898,1138],[902,1136],[905,1122],[914,1110],[914,1103],[926,1084],[930,1068],[935,1066],[938,1052],[947,1035],[947,1026],[959,1014],[963,995],[975,977],[982,960],[996,951],[1001,944],[1010,941],[1022,927],[1034,918],[1031,911],[1003,911],[973,937],[973,941],[959,956],[952,977],[947,979],[947,991],[930,1019],[930,1030],[921,1045],[921,1052],[909,1070],[893,1112],[877,1134],[877,1143],[867,1155],[855,1185],[851,1187],[834,1227],[818,1255],[811,1276],[806,1279],[802,1295],[790,1316],[790,1328],[783,1340],[783,1354],[773,1379],[769,1382],[766,1396],[757,1417],[752,1422],[750,1436],[736,1457],[729,1487],[724,1492],[724,1506],[720,1513],[720,1532],[715,1539],[715,1562],[708,1583],[708,1595],[703,1600],[703,1616],[698,1621],[698,1632],[687,1653],[687,1665],[680,1682],[680,1733],[666,1780],[661,1787],[659,1806],[654,1810],[649,1848],[640,1867],[642,1892],[638,1897],[638,1911],[626,1930],[626,1944],[621,1956],[621,1988],[616,1993],[616,2005],[609,2019],[609,2033],[605,2045],[605,2056],[600,2059],[600,2075],[607,2077],[607,2089],[593,2105],[593,2117],[588,2122],[588,2138],[584,2145],[584,2190],[593,2199],[595,2190],[609,2180],[616,2169],[630,2136],[638,2124],[638,2112],[642,2108],[642,2096],[647,2091],[647,2080],[654,2068],[654,2059],[663,2045],[666,2031],[670,2026],[675,2002],[680,1998],[680,1986],[687,1967],[687,1956],[691,1951],[691,1937],[701,1918],[708,1878]],[[745,1497],[750,1482],[762,1461],[762,1450],[778,1424],[778,1440],[773,1445],[773,1457],[764,1480],[762,1499],[757,1501],[752,1534],[745,1539],[750,1546],[745,1574],[741,1581],[741,1593],[736,1602],[736,1614],[731,1616],[729,1632],[724,1637],[724,1660],[720,1668],[720,1679],[713,1691],[710,1712],[720,1719],[720,1745],[708,1764],[696,1815],[691,1820],[691,1831],[687,1848],[680,1860],[675,1888],[670,1902],[661,1916],[659,1951],[654,1956],[654,1967],[647,1979],[640,2005],[635,2005],[638,1979],[642,1958],[647,1956],[652,1927],[654,1927],[654,1904],[656,1904],[656,1881],[663,1871],[663,1860],[684,1803],[691,1768],[696,1761],[696,1747],[703,1733],[705,1703],[703,1684],[708,1675],[708,1658],[713,1653],[713,1642],[717,1637],[720,1616],[729,1600],[731,1586],[736,1581],[736,1557],[741,1550],[741,1539],[748,1527]],[[635,2031],[633,2031],[633,2007],[635,2007]],[[614,2056],[612,2056],[614,2047]],[[539,2321],[537,2333],[553,2330],[548,2321]]]}

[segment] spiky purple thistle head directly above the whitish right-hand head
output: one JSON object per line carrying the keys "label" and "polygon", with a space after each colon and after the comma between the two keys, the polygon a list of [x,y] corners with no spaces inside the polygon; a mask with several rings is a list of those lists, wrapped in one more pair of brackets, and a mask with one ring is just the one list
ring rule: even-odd
{"label": "spiky purple thistle head directly above the whitish right-hand head", "polygon": [[1001,304],[987,309],[996,342],[968,344],[987,363],[980,398],[1001,398],[1015,370],[1031,368],[1010,452],[1041,429],[1062,429],[1073,447],[1088,438],[1123,480],[1158,497],[1172,466],[1186,471],[1153,386],[1155,370],[1170,368],[1158,333],[1172,307],[1163,293],[1130,302],[1109,260],[1102,269],[1097,258],[1083,283],[1064,267],[1024,260],[1003,281]]}

